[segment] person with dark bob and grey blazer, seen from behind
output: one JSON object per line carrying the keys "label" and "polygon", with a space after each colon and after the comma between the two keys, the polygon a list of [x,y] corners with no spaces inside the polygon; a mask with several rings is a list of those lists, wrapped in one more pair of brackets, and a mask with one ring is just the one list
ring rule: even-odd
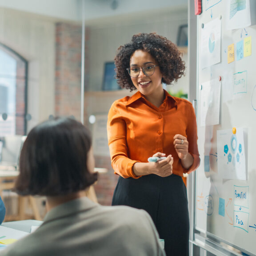
{"label": "person with dark bob and grey blazer, seen from behind", "polygon": [[84,196],[97,173],[91,136],[80,122],[57,118],[32,128],[19,166],[16,192],[46,196],[48,212],[35,232],[1,256],[165,256],[147,212]]}

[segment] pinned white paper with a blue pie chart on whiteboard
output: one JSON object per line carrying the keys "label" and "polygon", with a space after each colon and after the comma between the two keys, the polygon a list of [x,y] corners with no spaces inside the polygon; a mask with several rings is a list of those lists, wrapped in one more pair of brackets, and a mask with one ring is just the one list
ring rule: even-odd
{"label": "pinned white paper with a blue pie chart on whiteboard", "polygon": [[201,29],[202,69],[220,62],[221,20],[219,18],[204,24]]}

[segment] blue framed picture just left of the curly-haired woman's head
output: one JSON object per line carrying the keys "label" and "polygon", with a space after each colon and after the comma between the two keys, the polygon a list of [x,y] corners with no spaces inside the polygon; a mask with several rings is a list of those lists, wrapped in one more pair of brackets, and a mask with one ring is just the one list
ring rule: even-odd
{"label": "blue framed picture just left of the curly-haired woman's head", "polygon": [[103,77],[103,91],[116,91],[120,90],[120,86],[116,81],[116,71],[115,71],[115,63],[106,62],[104,67],[104,77]]}

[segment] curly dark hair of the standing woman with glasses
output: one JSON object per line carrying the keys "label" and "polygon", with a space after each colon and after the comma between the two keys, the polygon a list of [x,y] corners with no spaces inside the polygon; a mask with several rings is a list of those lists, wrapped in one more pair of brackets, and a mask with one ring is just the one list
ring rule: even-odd
{"label": "curly dark hair of the standing woman with glasses", "polygon": [[139,33],[132,36],[130,43],[121,45],[117,50],[116,79],[121,88],[136,90],[126,70],[130,67],[130,58],[136,50],[148,52],[156,60],[163,75],[162,83],[171,84],[184,75],[185,63],[175,44],[156,33]]}

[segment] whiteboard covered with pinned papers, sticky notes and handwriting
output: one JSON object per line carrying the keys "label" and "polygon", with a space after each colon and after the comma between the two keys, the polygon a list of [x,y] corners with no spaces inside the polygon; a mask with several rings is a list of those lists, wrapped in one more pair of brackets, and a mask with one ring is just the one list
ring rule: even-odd
{"label": "whiteboard covered with pinned papers, sticky notes and handwriting", "polygon": [[197,18],[195,227],[250,255],[256,255],[255,3],[202,0]]}

